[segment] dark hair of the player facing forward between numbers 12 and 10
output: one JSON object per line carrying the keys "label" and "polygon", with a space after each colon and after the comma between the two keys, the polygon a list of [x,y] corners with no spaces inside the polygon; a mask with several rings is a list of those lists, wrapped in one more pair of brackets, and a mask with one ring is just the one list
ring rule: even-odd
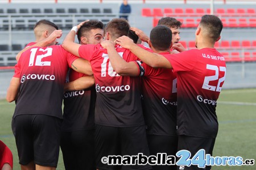
{"label": "dark hair of the player facing forward between numbers 12 and 10", "polygon": [[88,33],[91,29],[103,29],[104,24],[98,20],[89,20],[88,22],[85,22],[80,27],[79,31],[77,31],[77,39],[79,40],[79,43],[81,41],[81,37],[88,37]]}

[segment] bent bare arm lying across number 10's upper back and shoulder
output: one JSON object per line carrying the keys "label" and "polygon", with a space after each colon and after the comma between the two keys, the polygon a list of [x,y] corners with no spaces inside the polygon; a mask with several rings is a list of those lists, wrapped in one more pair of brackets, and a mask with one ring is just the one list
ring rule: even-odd
{"label": "bent bare arm lying across number 10's upper back and shoulder", "polygon": [[109,61],[117,74],[122,76],[138,76],[139,70],[137,63],[131,61],[126,62],[115,50],[114,42],[105,40],[101,42],[101,46],[108,50]]}

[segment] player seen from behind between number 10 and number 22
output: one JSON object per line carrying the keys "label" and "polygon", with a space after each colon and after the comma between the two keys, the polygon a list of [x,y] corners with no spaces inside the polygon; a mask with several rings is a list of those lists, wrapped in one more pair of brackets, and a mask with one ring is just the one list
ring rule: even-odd
{"label": "player seen from behind between number 10 and number 22", "polygon": [[[171,29],[158,25],[150,32],[148,45],[151,52],[164,55],[170,54],[172,43]],[[110,41],[102,41],[101,45],[108,50],[113,69],[119,75],[139,76],[137,62],[126,62],[119,56]],[[176,73],[172,69],[154,69],[141,63],[144,69],[142,77],[143,113],[147,125],[147,141],[150,155],[165,153],[176,155]],[[175,159],[173,162],[175,164]],[[154,165],[153,169],[176,169],[175,165]]]}

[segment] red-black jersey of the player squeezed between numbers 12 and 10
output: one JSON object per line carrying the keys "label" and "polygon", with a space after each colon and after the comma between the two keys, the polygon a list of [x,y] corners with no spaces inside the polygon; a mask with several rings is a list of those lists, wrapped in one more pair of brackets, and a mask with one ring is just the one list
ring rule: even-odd
{"label": "red-black jersey of the player squeezed between numbers 12 and 10", "polygon": [[[72,69],[69,71],[69,81],[76,80],[85,74]],[[96,91],[94,87],[79,91],[67,91],[63,97],[62,131],[89,130],[94,128],[94,109]]]}

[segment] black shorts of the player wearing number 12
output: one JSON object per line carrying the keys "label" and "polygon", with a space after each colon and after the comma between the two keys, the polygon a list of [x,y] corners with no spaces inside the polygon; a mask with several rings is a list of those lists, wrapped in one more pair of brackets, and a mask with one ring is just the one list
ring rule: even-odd
{"label": "black shorts of the player wearing number 12", "polygon": [[19,156],[19,164],[57,167],[60,150],[62,120],[43,114],[25,114],[13,118],[12,129]]}

